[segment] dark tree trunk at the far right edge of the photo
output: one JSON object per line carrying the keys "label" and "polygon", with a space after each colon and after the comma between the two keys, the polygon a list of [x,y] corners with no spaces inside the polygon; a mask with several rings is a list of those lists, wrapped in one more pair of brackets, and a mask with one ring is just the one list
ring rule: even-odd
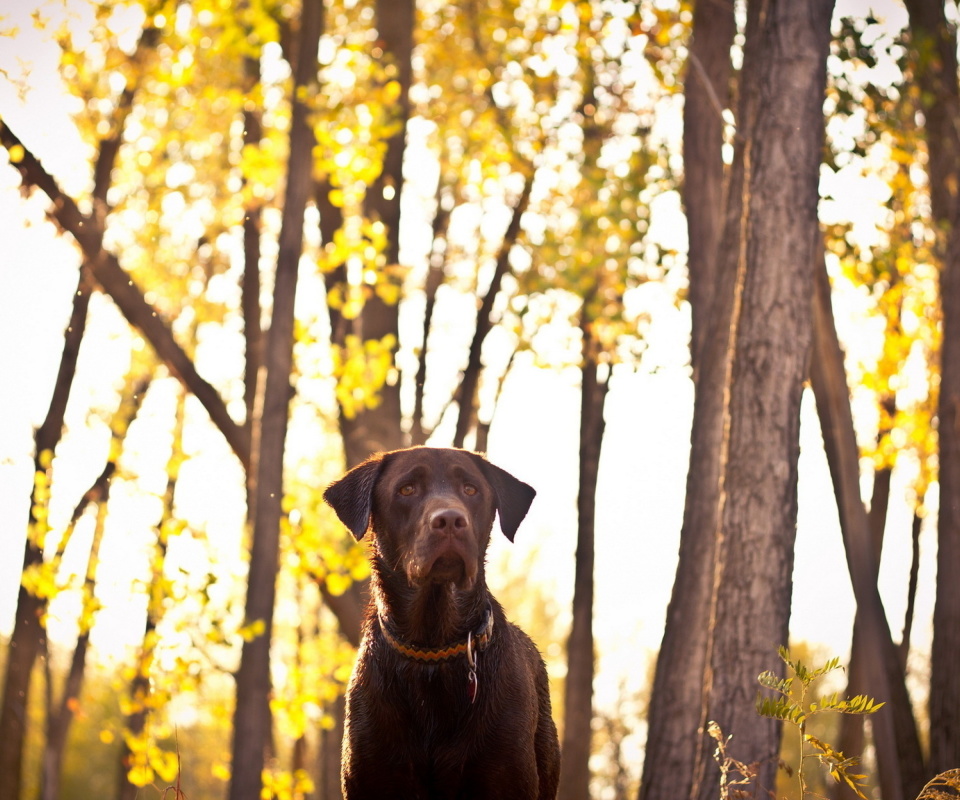
{"label": "dark tree trunk at the far right edge of the photo", "polygon": [[930,204],[940,236],[940,513],[930,654],[930,769],[960,764],[960,86],[957,35],[936,0],[906,0],[926,119]]}

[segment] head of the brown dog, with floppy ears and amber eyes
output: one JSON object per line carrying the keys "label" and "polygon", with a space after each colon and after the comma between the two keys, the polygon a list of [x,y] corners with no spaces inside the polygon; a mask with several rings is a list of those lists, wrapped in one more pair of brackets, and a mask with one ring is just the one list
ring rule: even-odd
{"label": "head of the brown dog, with floppy ears and amber eyes", "polygon": [[413,586],[474,586],[494,516],[513,537],[536,492],[466,450],[412,447],[372,456],[323,494],[357,539],[368,529],[383,562]]}

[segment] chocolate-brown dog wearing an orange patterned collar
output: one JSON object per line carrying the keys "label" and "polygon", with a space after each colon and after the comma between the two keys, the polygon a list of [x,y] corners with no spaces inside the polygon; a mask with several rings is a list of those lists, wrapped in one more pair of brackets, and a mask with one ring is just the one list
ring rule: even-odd
{"label": "chocolate-brown dog wearing an orange patterned collar", "polygon": [[511,541],[534,490],[476,453],[376,455],[324,499],[376,536],[347,688],[347,800],[553,800],[560,748],[543,659],[487,591],[494,515]]}

